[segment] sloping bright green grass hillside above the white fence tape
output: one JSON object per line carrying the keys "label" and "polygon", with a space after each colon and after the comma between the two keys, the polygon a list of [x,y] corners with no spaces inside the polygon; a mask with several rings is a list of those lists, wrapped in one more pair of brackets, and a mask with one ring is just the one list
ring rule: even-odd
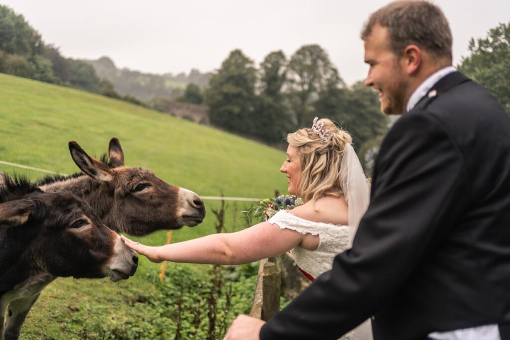
{"label": "sloping bright green grass hillside above the white fence tape", "polygon": [[150,168],[199,195],[267,197],[286,189],[282,151],[80,90],[0,74],[0,119],[7,162],[72,173],[70,140],[99,156],[117,136],[127,166]]}

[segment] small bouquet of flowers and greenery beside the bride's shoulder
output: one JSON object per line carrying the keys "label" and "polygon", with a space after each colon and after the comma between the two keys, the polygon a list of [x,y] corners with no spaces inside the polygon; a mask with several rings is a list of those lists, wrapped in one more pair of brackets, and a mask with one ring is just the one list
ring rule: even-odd
{"label": "small bouquet of flowers and greenery beside the bride's shoulder", "polygon": [[295,195],[282,195],[275,198],[263,199],[258,205],[255,205],[242,213],[251,225],[252,220],[256,222],[267,221],[279,210],[290,210],[302,204],[303,200],[300,197]]}

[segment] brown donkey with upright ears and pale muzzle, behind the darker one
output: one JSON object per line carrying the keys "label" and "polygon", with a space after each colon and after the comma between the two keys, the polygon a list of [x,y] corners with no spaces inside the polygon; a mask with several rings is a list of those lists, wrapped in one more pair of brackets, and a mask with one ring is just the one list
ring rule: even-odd
{"label": "brown donkey with upright ears and pale muzzle, behind the darker one", "polygon": [[69,142],[69,150],[83,173],[48,176],[38,182],[39,188],[80,196],[115,231],[142,236],[160,229],[195,226],[206,215],[194,192],[169,185],[151,170],[125,167],[117,138],[110,140],[108,164],[89,156],[76,142]]}

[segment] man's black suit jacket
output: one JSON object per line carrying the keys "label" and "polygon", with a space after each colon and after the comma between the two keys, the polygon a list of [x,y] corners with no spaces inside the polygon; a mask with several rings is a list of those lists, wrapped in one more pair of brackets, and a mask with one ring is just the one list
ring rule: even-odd
{"label": "man's black suit jacket", "polygon": [[382,142],[350,250],[260,332],[375,339],[510,321],[510,118],[459,72]]}

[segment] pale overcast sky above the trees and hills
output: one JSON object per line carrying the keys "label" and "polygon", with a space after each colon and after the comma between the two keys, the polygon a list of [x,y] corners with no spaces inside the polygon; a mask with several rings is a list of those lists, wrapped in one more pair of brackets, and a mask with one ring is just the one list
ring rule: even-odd
{"label": "pale overcast sky above the trees and hills", "polygon": [[[367,71],[360,30],[386,0],[0,0],[68,58],[110,57],[150,73],[213,71],[240,48],[259,64],[271,51],[289,58],[319,44],[352,84]],[[471,37],[510,21],[508,0],[436,0],[453,32],[454,64]]]}

